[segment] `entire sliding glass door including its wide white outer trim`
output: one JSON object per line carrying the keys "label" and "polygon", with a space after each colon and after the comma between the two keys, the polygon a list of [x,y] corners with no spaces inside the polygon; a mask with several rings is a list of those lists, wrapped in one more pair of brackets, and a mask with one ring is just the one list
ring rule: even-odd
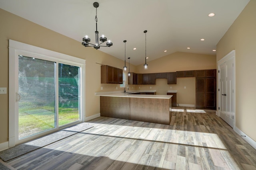
{"label": "entire sliding glass door including its wide white outer trim", "polygon": [[85,121],[85,60],[9,40],[9,147]]}

